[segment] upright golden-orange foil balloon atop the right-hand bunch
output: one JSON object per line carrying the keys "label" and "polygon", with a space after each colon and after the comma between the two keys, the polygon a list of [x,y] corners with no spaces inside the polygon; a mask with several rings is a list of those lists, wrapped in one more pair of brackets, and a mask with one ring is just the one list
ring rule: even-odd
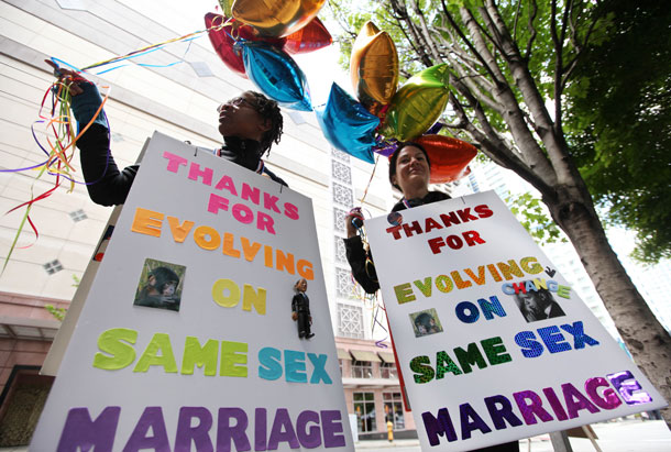
{"label": "upright golden-orange foil balloon atop the right-hand bunch", "polygon": [[359,101],[372,113],[378,113],[396,92],[396,45],[387,32],[381,32],[373,22],[366,22],[354,41],[350,77]]}

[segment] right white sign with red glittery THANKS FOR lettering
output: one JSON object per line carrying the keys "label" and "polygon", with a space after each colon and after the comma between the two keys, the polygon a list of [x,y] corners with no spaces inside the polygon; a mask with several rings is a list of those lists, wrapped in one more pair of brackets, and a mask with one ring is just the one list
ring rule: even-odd
{"label": "right white sign with red glittery THANKS FOR lettering", "polygon": [[399,214],[366,233],[422,450],[666,405],[493,191]]}

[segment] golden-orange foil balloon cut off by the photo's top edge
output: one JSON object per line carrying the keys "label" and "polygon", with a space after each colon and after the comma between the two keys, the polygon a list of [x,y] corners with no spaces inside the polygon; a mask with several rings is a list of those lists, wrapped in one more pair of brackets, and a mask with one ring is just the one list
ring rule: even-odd
{"label": "golden-orange foil balloon cut off by the photo's top edge", "polygon": [[307,25],[326,0],[235,0],[233,18],[264,36],[287,36]]}

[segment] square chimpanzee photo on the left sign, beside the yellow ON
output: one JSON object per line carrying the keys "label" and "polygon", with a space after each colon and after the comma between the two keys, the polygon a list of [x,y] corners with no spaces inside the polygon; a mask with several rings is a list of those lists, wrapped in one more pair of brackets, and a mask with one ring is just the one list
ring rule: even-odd
{"label": "square chimpanzee photo on the left sign, beside the yellow ON", "polygon": [[185,273],[184,265],[145,260],[133,305],[179,311]]}

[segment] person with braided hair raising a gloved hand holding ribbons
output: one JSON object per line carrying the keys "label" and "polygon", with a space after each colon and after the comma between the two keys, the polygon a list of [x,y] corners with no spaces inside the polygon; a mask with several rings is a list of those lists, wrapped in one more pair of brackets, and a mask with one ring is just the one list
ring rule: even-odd
{"label": "person with braided hair raising a gloved hand holding ribbons", "polygon": [[[67,79],[73,97],[72,108],[79,128],[88,124],[100,108],[102,98],[96,85],[77,73],[58,68],[46,60],[62,79]],[[273,143],[279,143],[283,118],[277,102],[255,91],[245,91],[217,109],[219,132],[223,146],[215,154],[270,177],[278,184],[287,184],[265,167],[262,156],[270,153]],[[78,128],[78,129],[79,129]],[[81,169],[89,196],[102,206],[122,205],[138,174],[139,165],[119,169],[110,153],[110,133],[105,111],[101,111],[90,128],[77,140]]]}

